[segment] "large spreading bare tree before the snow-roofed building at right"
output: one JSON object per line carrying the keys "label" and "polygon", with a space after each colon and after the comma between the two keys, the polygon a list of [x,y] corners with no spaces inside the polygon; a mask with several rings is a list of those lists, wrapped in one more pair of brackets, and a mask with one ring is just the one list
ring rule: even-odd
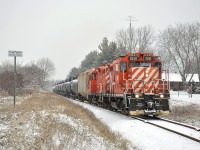
{"label": "large spreading bare tree before the snow-roofed building at right", "polygon": [[194,55],[192,53],[192,36],[189,34],[190,24],[176,24],[169,26],[159,35],[160,54],[163,54],[166,62],[174,64],[172,68],[180,73],[182,81],[186,84],[187,75],[195,73]]}

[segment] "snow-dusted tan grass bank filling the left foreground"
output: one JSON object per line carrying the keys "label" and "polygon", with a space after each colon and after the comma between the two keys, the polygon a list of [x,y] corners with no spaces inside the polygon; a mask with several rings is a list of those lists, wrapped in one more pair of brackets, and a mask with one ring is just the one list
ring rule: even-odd
{"label": "snow-dusted tan grass bank filling the left foreground", "polygon": [[[0,107],[0,149],[132,149],[94,114],[50,92]],[[2,126],[2,127],[1,127]]]}

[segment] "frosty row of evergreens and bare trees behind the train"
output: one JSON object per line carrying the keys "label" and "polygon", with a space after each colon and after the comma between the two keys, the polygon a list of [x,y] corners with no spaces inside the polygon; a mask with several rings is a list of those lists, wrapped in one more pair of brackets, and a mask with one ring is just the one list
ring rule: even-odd
{"label": "frosty row of evergreens and bare trees behind the train", "polygon": [[184,84],[188,74],[197,73],[200,79],[200,23],[177,23],[159,33],[151,25],[118,30],[114,41],[104,37],[98,50],[87,54],[79,67],[73,67],[66,80],[129,52],[153,52],[161,56],[163,68],[179,73]]}

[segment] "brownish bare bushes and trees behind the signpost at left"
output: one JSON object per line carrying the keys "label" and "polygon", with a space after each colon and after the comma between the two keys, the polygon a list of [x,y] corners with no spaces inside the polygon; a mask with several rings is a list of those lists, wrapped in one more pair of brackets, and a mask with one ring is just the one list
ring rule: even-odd
{"label": "brownish bare bushes and trees behind the signpost at left", "polygon": [[[9,61],[0,64],[0,90],[13,94],[14,65]],[[32,92],[44,88],[47,80],[55,73],[54,63],[49,58],[40,58],[26,65],[17,64],[16,90],[17,94]]]}

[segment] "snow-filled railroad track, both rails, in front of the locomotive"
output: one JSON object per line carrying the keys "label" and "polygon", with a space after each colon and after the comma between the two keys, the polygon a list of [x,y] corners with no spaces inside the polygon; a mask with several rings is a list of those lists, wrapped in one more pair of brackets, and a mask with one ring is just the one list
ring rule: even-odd
{"label": "snow-filled railroad track, both rails, in front of the locomotive", "polygon": [[132,118],[162,128],[164,130],[173,132],[175,134],[178,134],[180,136],[183,136],[185,138],[200,143],[200,132],[199,132],[200,128],[159,117],[155,117],[154,119],[152,118],[143,119],[140,117],[132,117]]}

